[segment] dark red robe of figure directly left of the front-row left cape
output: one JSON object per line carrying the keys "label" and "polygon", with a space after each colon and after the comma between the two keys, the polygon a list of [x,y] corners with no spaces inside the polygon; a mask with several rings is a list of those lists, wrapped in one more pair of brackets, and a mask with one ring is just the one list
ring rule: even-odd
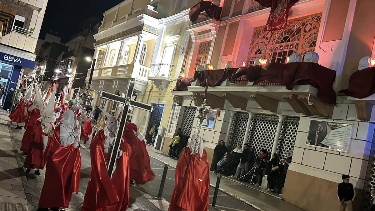
{"label": "dark red robe of figure directly left of the front-row left cape", "polygon": [[24,167],[29,169],[43,169],[43,132],[42,124],[36,121],[33,125],[32,135],[30,137],[30,149],[27,152]]}

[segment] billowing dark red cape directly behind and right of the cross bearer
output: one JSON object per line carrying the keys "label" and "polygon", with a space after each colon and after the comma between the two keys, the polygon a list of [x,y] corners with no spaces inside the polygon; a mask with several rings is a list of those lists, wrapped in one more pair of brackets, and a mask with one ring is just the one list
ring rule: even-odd
{"label": "billowing dark red cape directly behind and right of the cross bearer", "polygon": [[126,122],[124,128],[124,137],[132,148],[130,155],[130,179],[134,179],[137,184],[145,184],[155,179],[155,174],[151,170],[150,156],[148,155],[146,144],[138,139],[134,132],[137,126]]}

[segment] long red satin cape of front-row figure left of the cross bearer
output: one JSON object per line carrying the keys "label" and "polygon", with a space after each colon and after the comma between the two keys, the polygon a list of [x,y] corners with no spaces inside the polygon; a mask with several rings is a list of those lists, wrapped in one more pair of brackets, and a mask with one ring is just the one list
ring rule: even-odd
{"label": "long red satin cape of front-row figure left of the cross bearer", "polygon": [[78,192],[81,176],[81,152],[72,144],[60,144],[60,125],[49,142],[46,174],[39,207],[68,208],[72,193]]}

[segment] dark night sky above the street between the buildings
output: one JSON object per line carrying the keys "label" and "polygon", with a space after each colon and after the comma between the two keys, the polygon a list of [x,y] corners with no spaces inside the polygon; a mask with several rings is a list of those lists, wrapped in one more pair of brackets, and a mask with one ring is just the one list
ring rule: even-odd
{"label": "dark night sky above the street between the buildings", "polygon": [[[78,25],[89,17],[103,19],[104,11],[123,0],[49,0],[39,38],[43,39],[50,30],[53,35],[70,40],[80,32]],[[55,33],[57,32],[57,34]]]}

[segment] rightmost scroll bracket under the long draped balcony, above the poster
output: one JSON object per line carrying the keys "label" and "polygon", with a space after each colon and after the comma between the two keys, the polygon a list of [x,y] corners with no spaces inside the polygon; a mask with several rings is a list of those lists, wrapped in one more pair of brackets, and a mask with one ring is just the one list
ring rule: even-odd
{"label": "rightmost scroll bracket under the long draped balcony, above the poster", "polygon": [[331,117],[333,112],[333,105],[322,102],[318,97],[302,94],[298,95],[298,99],[305,104],[306,108],[309,109],[312,115],[319,115],[321,117]]}

